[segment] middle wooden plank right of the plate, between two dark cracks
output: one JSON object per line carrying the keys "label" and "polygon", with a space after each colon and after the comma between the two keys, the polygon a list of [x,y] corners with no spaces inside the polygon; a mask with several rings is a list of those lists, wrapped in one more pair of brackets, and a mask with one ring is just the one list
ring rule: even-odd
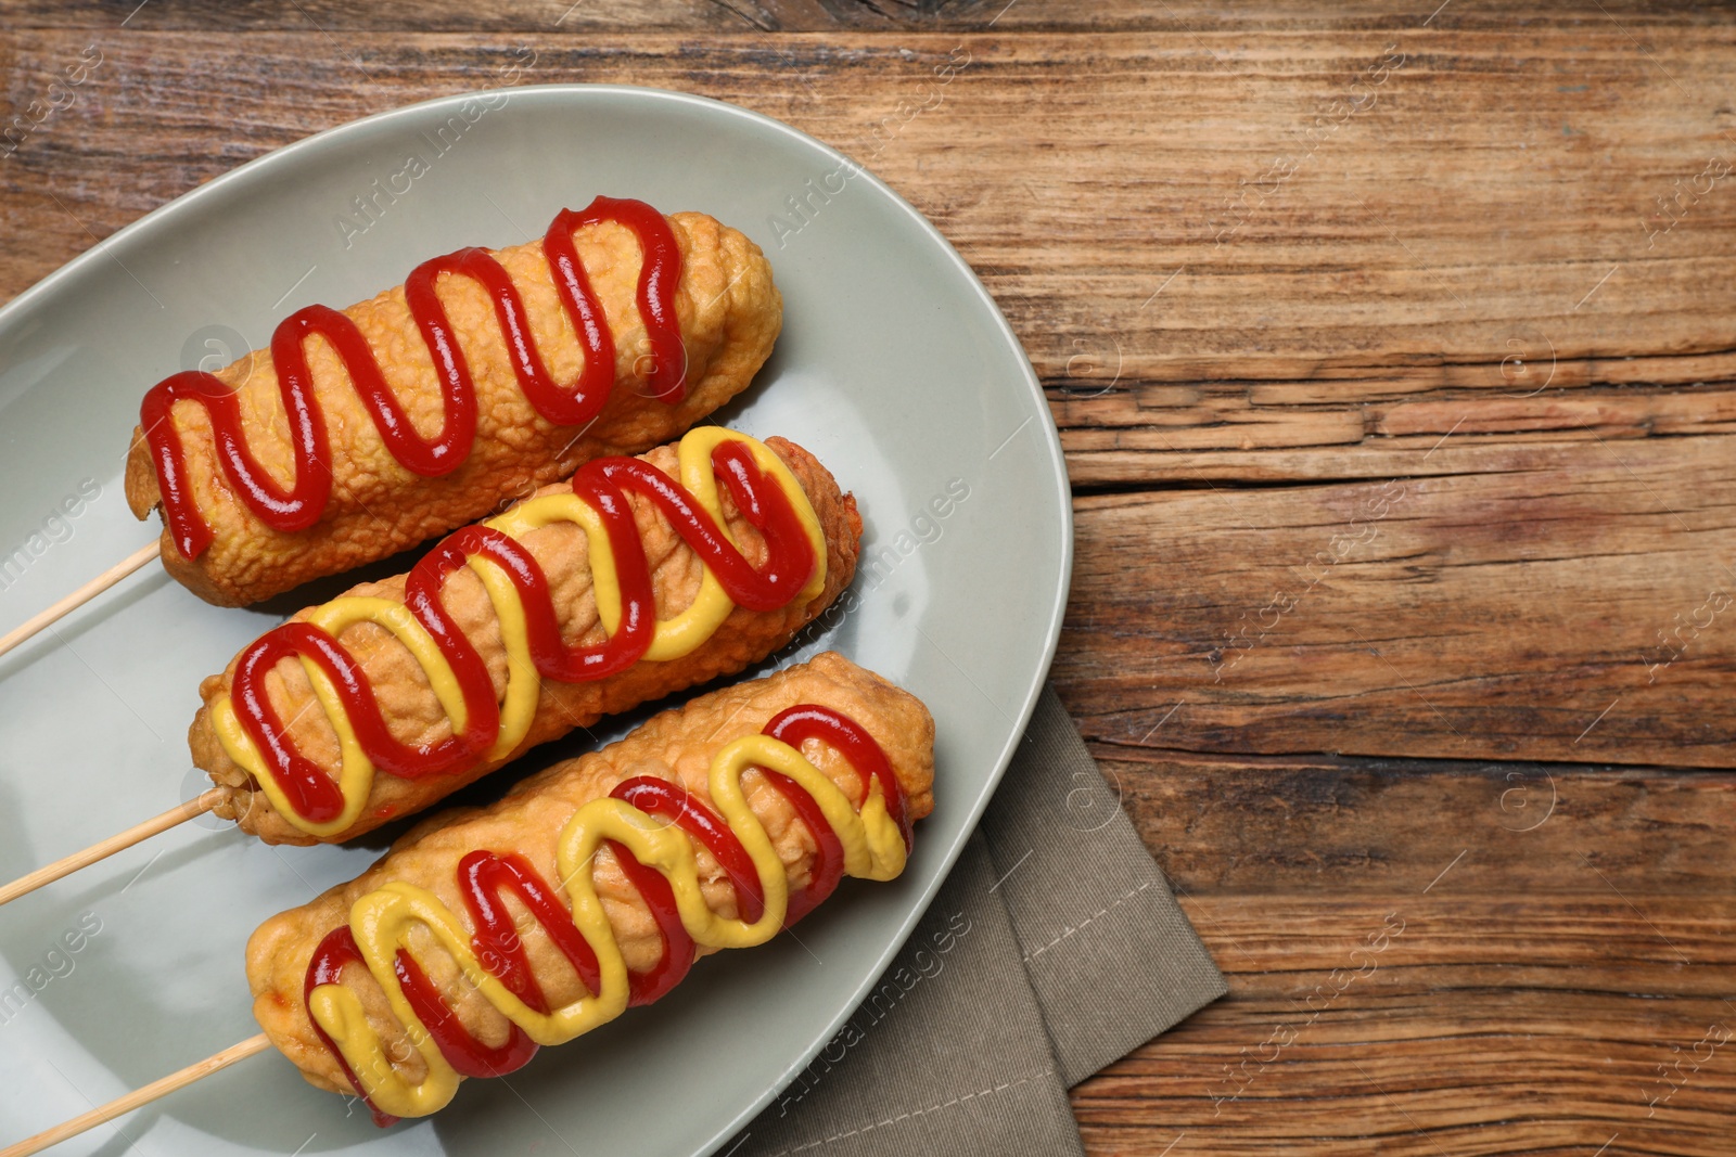
{"label": "middle wooden plank right of the plate, between two dark cracks", "polygon": [[1121,744],[1727,767],[1733,458],[1080,498],[1055,680]]}

